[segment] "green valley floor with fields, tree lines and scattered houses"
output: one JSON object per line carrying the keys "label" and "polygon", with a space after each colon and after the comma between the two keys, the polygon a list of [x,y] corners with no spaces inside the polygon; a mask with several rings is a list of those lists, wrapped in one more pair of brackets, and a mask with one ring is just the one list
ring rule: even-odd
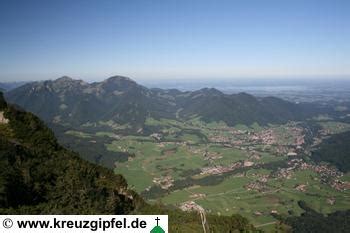
{"label": "green valley floor with fields, tree lines and scattered houses", "polygon": [[[314,146],[329,135],[350,130],[346,123],[314,119],[305,124],[236,125],[223,122],[146,120],[139,135],[124,135],[128,126],[101,122],[103,131],[67,131],[90,141],[102,140],[106,151],[125,153],[114,171],[150,202],[207,213],[247,217],[256,227],[272,230],[272,214],[300,215],[303,200],[321,213],[350,206],[350,173],[310,159]],[[90,130],[89,130],[90,129]],[[310,138],[310,134],[314,135]]]}

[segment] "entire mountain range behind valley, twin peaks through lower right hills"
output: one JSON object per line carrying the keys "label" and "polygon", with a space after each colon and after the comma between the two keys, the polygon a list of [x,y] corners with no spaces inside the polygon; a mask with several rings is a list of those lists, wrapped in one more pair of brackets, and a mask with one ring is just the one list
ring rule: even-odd
{"label": "entire mountain range behind valley, twin peaks through lower right hills", "polygon": [[8,92],[6,97],[49,123],[80,126],[113,120],[130,124],[134,132],[144,126],[147,117],[200,117],[208,122],[249,125],[303,119],[315,111],[278,98],[227,95],[213,88],[193,92],[148,89],[122,76],[91,84],[68,77],[34,82]]}

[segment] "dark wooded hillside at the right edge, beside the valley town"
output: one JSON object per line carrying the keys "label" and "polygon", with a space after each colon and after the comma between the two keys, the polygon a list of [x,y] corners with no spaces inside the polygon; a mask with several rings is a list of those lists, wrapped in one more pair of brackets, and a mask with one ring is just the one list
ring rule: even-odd
{"label": "dark wooded hillside at the right edge, beside the valley town", "polygon": [[316,162],[328,162],[342,172],[350,171],[350,132],[325,139],[311,158]]}

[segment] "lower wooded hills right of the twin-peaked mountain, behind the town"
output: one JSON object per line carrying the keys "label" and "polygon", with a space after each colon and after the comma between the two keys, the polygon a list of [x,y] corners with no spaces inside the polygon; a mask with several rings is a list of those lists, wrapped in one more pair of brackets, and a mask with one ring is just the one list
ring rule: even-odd
{"label": "lower wooded hills right of the twin-peaked mountain, behind the town", "polygon": [[203,120],[224,121],[228,125],[254,122],[260,125],[303,119],[308,114],[296,104],[274,97],[257,99],[246,93],[225,95],[215,89],[202,89],[183,98],[181,116],[201,116]]}

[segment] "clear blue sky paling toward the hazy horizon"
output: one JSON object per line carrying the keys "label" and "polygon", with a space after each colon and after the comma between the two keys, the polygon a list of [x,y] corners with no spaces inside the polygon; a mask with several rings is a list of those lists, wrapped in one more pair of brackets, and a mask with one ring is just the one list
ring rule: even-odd
{"label": "clear blue sky paling toward the hazy horizon", "polygon": [[349,0],[0,0],[0,82],[350,77]]}

